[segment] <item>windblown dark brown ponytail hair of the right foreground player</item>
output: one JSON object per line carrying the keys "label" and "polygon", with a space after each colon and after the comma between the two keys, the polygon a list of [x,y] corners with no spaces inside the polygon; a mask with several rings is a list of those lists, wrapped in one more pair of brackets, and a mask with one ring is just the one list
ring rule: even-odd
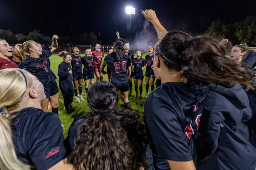
{"label": "windblown dark brown ponytail hair of the right foreground player", "polygon": [[253,88],[253,75],[243,63],[236,63],[225,56],[225,46],[219,40],[198,36],[191,37],[181,31],[168,32],[156,44],[155,56],[163,59],[172,70],[186,69],[186,74],[194,75],[202,82],[233,87],[244,84]]}

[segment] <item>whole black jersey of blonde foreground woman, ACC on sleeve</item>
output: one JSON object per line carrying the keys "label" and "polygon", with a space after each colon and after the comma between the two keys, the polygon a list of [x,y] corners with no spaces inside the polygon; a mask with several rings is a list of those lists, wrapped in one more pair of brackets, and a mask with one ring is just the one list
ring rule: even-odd
{"label": "whole black jersey of blonde foreground woman, ACC on sleeve", "polygon": [[66,158],[63,128],[58,115],[25,108],[11,121],[17,158],[37,170],[48,170]]}

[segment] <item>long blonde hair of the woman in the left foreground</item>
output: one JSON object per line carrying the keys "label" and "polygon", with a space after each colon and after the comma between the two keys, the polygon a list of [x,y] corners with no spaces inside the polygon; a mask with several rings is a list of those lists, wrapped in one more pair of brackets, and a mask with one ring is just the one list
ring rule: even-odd
{"label": "long blonde hair of the woman in the left foreground", "polygon": [[26,107],[25,94],[33,86],[32,77],[25,77],[25,70],[0,70],[0,169],[1,170],[30,170],[29,165],[21,163],[15,153],[12,141],[10,120],[17,112]]}

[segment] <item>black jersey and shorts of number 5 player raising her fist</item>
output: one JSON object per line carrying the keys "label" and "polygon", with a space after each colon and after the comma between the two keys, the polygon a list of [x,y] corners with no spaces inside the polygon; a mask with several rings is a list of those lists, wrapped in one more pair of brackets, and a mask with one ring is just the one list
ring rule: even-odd
{"label": "black jersey and shorts of number 5 player raising her fist", "polygon": [[28,55],[27,59],[19,65],[20,69],[26,69],[44,85],[46,98],[58,93],[58,85],[55,81],[57,78],[50,69],[49,64],[49,57],[51,55],[51,50],[47,49],[42,52],[39,58],[32,58]]}

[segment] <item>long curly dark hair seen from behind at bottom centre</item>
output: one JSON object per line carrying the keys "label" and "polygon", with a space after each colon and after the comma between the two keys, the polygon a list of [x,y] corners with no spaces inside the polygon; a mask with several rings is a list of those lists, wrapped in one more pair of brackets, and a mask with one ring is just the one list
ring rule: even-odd
{"label": "long curly dark hair seen from behind at bottom centre", "polygon": [[115,109],[116,87],[96,82],[88,91],[87,103],[92,111],[78,128],[68,162],[76,170],[147,169],[145,126],[130,110]]}

